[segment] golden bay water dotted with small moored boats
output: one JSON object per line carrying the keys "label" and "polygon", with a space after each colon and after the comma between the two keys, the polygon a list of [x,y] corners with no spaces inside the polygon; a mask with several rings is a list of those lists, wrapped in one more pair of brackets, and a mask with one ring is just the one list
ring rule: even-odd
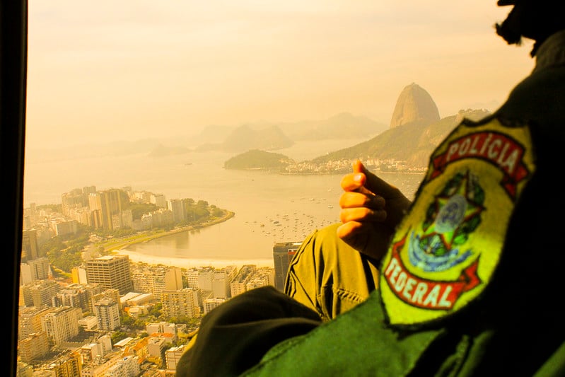
{"label": "golden bay water dotted with small moored boats", "polygon": [[[351,141],[354,145],[359,141]],[[276,151],[296,161],[344,147],[343,140],[297,143]],[[34,159],[25,165],[24,202],[60,203],[63,192],[95,185],[98,190],[131,186],[166,199],[190,197],[229,209],[221,224],[131,245],[120,253],[133,261],[195,265],[272,265],[276,242],[301,241],[311,231],[339,221],[339,175],[280,175],[225,170],[233,153],[191,152],[153,158],[129,156]],[[413,197],[423,175],[381,175]]]}

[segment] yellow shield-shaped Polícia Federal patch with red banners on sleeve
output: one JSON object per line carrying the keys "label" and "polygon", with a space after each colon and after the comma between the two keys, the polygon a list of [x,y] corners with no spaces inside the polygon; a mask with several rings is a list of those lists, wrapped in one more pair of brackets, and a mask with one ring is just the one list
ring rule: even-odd
{"label": "yellow shield-shaped Pol\u00edcia Federal patch with red banners on sleeve", "polygon": [[392,325],[440,320],[484,290],[535,170],[528,127],[460,124],[433,152],[380,274]]}

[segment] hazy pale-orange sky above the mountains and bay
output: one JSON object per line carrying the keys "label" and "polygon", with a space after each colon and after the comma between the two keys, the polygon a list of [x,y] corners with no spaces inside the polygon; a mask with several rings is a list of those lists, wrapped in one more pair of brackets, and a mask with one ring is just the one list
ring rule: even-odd
{"label": "hazy pale-orange sky above the mountains and bay", "polygon": [[441,117],[495,110],[531,43],[496,0],[30,0],[27,146],[194,134],[209,124],[390,122],[409,83]]}

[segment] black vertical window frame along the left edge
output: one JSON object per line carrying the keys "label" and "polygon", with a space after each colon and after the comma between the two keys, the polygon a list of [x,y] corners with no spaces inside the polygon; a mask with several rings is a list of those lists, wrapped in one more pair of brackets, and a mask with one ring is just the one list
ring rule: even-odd
{"label": "black vertical window frame along the left edge", "polygon": [[[28,68],[28,1],[0,2],[0,174],[4,204],[1,240],[4,245],[3,288],[8,294],[11,328],[4,336],[2,370],[16,376],[18,310],[23,221],[23,163]],[[6,313],[8,312],[8,313]]]}

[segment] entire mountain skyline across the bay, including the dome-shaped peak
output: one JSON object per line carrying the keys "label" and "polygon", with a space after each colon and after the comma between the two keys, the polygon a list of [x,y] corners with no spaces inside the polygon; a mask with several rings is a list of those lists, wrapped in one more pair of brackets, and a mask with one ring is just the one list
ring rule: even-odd
{"label": "entire mountain skyline across the bay, including the dome-shaped peak", "polygon": [[[165,139],[122,140],[98,146],[69,146],[60,151],[37,150],[27,153],[26,159],[45,161],[88,156],[118,156],[144,153],[149,156],[174,156],[191,151],[226,151],[243,153],[242,158],[226,161],[226,168],[273,168],[273,161],[292,163],[287,156],[272,153],[288,148],[297,141],[341,139],[344,149],[319,156],[312,163],[353,158],[379,158],[405,161],[407,166],[425,168],[429,156],[438,143],[462,117],[477,120],[488,115],[487,110],[460,110],[457,115],[440,119],[436,104],[423,88],[411,83],[397,99],[390,124],[375,122],[368,117],[342,112],[325,120],[302,122],[256,122],[240,126],[206,127],[192,137]],[[376,135],[376,136],[375,136]],[[366,141],[350,146],[348,140]],[[173,142],[176,146],[170,145]],[[180,146],[179,146],[180,145]],[[197,146],[197,147],[194,147]],[[247,153],[251,152],[252,153]],[[258,153],[262,151],[262,153]],[[29,152],[29,151],[28,151]],[[264,153],[263,153],[264,152]],[[46,157],[47,156],[47,157]],[[235,154],[234,157],[238,157]],[[257,161],[254,161],[257,160]],[[297,161],[302,162],[302,161]]]}

